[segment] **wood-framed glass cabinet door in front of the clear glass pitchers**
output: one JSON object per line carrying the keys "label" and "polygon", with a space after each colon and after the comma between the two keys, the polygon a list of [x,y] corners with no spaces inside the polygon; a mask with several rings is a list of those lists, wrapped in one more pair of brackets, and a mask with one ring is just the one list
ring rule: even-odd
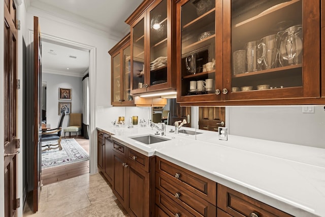
{"label": "wood-framed glass cabinet door in front of the clear glass pitchers", "polygon": [[318,0],[232,0],[223,10],[225,100],[319,97]]}

